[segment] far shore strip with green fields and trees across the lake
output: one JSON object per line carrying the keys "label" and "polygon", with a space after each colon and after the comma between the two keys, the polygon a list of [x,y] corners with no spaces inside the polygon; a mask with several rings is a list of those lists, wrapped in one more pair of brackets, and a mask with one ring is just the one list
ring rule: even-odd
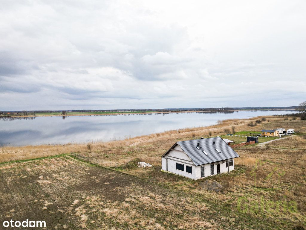
{"label": "far shore strip with green fields and trees across the lake", "polygon": [[99,113],[99,112],[92,112],[92,113],[77,113],[77,114],[40,114],[40,115],[22,115],[22,116],[15,116],[15,115],[0,115],[0,117],[63,117],[63,116],[98,116],[98,115],[124,115],[124,114],[152,114],[152,113],[222,113],[222,112],[238,112],[238,111],[294,111],[294,109],[236,109],[236,110],[196,110],[196,111],[168,111],[168,112],[157,112],[157,111],[150,111],[150,112],[113,112],[113,113]]}

